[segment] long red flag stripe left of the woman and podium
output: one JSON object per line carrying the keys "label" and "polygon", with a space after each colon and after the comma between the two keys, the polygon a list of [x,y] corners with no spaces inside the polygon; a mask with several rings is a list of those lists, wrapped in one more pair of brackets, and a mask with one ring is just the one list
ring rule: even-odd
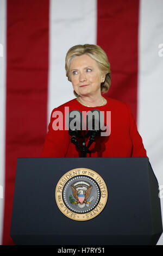
{"label": "long red flag stripe left of the woman and podium", "polygon": [[14,244],[10,224],[17,157],[39,157],[47,131],[48,34],[47,0],[8,0],[3,245]]}

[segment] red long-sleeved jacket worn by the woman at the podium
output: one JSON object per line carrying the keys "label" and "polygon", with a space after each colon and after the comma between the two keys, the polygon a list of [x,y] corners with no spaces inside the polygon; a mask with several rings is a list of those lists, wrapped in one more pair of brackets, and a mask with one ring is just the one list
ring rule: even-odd
{"label": "red long-sleeved jacket worn by the woman at the podium", "polygon": [[58,108],[54,108],[41,157],[82,156],[80,150],[71,143],[71,136],[68,134],[68,130],[53,130],[52,125],[56,124],[58,118],[52,117],[54,111],[62,112],[63,124],[61,126],[65,127],[65,107],[69,107],[69,111],[78,109],[80,112],[87,112],[95,108],[104,111],[105,114],[106,111],[111,111],[110,135],[97,136],[96,141],[89,148],[90,153],[87,154],[87,157],[147,157],[129,105],[109,97],[105,97],[105,99],[107,103],[101,107],[85,107],[76,99],[73,99]]}

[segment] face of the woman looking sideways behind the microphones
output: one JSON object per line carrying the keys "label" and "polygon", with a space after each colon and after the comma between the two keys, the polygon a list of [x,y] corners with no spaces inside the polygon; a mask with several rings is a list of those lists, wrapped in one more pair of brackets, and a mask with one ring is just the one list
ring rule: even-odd
{"label": "face of the woman looking sideways behind the microphones", "polygon": [[70,74],[73,89],[79,96],[101,94],[101,82],[105,75],[96,61],[87,54],[72,59]]}

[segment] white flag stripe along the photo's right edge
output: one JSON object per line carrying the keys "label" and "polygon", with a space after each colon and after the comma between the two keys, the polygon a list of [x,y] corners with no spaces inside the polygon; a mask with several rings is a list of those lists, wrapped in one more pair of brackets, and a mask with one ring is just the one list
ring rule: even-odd
{"label": "white flag stripe along the photo's right edge", "polygon": [[[138,128],[159,185],[163,185],[163,1],[140,2]],[[163,216],[163,198],[161,199]],[[163,244],[163,236],[158,245]]]}

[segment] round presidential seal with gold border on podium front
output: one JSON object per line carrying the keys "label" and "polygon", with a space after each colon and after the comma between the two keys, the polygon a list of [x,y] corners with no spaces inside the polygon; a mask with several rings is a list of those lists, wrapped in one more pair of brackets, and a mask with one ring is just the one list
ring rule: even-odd
{"label": "round presidential seal with gold border on podium front", "polygon": [[59,180],[55,199],[68,218],[87,221],[102,212],[108,199],[108,190],[102,177],[87,168],[65,173]]}

